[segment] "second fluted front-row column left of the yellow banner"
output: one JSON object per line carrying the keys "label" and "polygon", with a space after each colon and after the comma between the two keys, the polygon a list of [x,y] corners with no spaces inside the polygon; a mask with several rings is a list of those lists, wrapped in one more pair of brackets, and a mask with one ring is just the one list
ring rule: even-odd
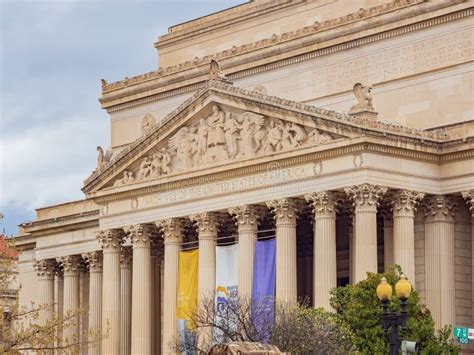
{"label": "second fluted front-row column left of the yellow banner", "polygon": [[137,224],[126,228],[133,246],[132,354],[151,354],[150,238],[154,227]]}

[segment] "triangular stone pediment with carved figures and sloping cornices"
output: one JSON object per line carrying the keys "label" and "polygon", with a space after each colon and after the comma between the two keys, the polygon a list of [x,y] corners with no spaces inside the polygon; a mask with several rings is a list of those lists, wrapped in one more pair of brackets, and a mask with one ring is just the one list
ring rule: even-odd
{"label": "triangular stone pediment with carved figures and sloping cornices", "polygon": [[[83,191],[138,186],[355,137],[346,115],[209,82],[85,181]],[[146,120],[144,120],[146,123]]]}

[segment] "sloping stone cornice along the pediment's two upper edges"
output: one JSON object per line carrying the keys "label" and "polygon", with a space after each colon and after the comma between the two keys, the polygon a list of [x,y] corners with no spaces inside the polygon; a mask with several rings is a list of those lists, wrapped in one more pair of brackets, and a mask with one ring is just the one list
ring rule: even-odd
{"label": "sloping stone cornice along the pediment's two upper edges", "polygon": [[[425,131],[405,127],[393,122],[368,122],[336,111],[326,110],[295,101],[268,96],[257,91],[246,90],[219,81],[208,81],[206,88],[195,93],[177,109],[168,114],[148,135],[140,137],[100,171],[94,172],[84,181],[83,191],[92,193],[109,181],[110,178],[123,171],[125,167],[143,152],[149,151],[154,144],[169,136],[173,130],[182,125],[188,116],[198,107],[202,107],[211,97],[213,100],[224,100],[232,106],[249,105],[266,109],[271,114],[280,114],[305,120],[310,126],[328,132],[347,136],[363,135],[379,137],[398,143],[417,144],[425,147],[441,148],[440,143],[448,140],[442,130]],[[210,100],[212,101],[212,100]],[[248,109],[248,107],[247,107]]]}

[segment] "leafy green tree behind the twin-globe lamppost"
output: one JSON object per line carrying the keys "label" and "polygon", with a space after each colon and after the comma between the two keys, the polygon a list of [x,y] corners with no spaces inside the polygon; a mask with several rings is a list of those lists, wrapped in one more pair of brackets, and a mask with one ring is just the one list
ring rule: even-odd
{"label": "leafy green tree behind the twin-globe lamppost", "polygon": [[[347,324],[353,333],[353,342],[363,354],[388,354],[388,338],[382,328],[382,307],[376,295],[376,288],[382,277],[392,285],[399,280],[401,268],[390,267],[383,274],[367,273],[367,279],[356,285],[339,287],[331,291],[331,306],[340,321]],[[400,302],[392,296],[389,312],[400,311]],[[435,331],[431,313],[421,304],[420,295],[413,291],[407,304],[407,340],[417,341],[422,354],[458,354],[460,349],[450,339],[450,327]]]}

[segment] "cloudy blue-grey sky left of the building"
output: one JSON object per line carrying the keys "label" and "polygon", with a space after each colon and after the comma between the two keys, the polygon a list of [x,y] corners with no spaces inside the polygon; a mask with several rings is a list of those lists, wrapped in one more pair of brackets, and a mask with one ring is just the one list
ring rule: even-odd
{"label": "cloudy blue-grey sky left of the building", "polygon": [[244,0],[0,0],[0,229],[78,200],[110,144],[100,79],[157,68],[169,26]]}

